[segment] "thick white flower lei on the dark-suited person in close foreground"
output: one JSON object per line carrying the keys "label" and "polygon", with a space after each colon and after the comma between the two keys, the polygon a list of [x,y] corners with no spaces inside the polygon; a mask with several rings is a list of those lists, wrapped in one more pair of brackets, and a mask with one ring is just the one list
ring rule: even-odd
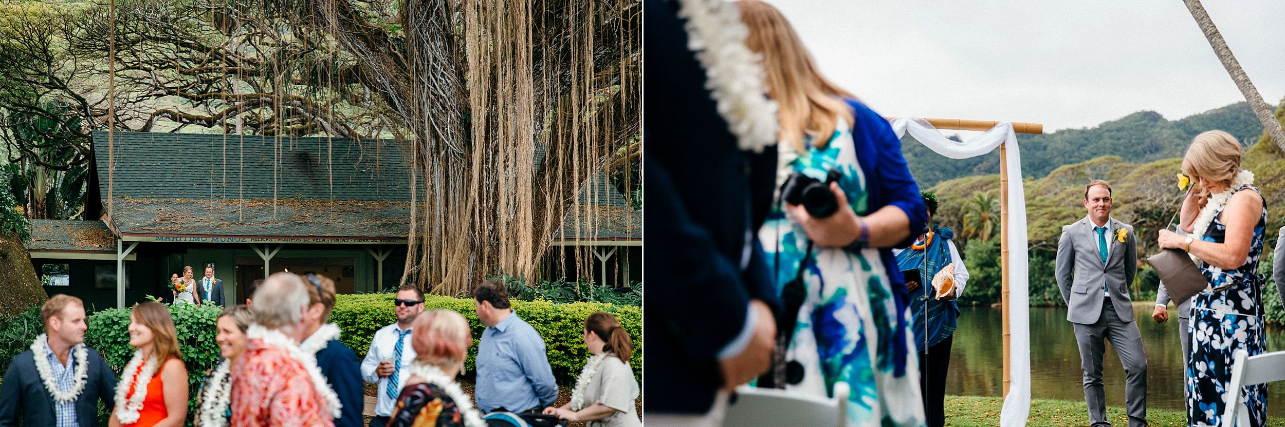
{"label": "thick white flower lei on the dark-suited person in close foreground", "polygon": [[759,58],[745,46],[749,28],[740,9],[725,0],[681,0],[678,15],[687,22],[687,49],[705,69],[705,88],[718,115],[745,151],[763,153],[776,144],[776,103],[767,97]]}

